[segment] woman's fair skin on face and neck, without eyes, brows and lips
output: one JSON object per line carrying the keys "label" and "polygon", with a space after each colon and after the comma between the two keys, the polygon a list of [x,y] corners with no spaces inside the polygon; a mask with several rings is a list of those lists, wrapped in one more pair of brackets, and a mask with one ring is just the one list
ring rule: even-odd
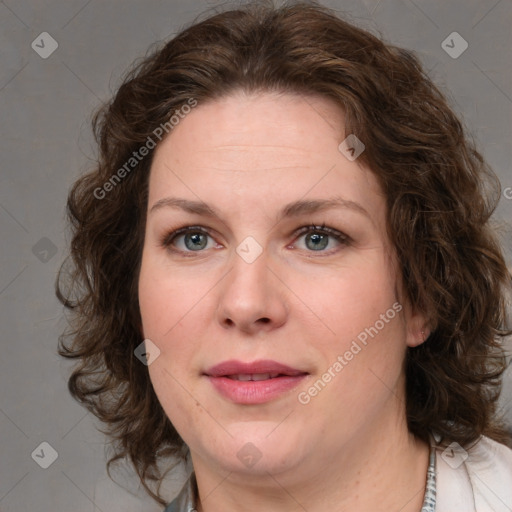
{"label": "woman's fair skin on face and neck, without eyes, brows and lips", "polygon": [[[240,92],[198,105],[156,149],[143,334],[160,350],[150,377],[190,447],[205,512],[421,509],[428,447],[407,430],[403,360],[428,329],[401,300],[375,176],[338,150],[343,126],[328,99]],[[216,215],[153,208],[171,196]],[[335,196],[366,214],[337,207],[279,218],[294,201]],[[297,233],[324,223],[348,242],[329,236],[315,251]],[[204,249],[190,250],[183,235],[162,244],[198,225],[210,233]],[[236,252],[248,236],[263,249],[252,263]],[[301,404],[299,393],[397,301],[402,311]],[[228,359],[273,359],[309,375],[268,403],[235,404],[203,375]],[[261,453],[252,467],[237,457],[249,442]]]}

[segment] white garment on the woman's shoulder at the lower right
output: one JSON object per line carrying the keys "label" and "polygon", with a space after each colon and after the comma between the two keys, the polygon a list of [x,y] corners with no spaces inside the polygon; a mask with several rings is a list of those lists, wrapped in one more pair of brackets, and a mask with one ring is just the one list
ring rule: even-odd
{"label": "white garment on the woman's shoulder at the lower right", "polygon": [[512,450],[487,437],[437,448],[438,512],[510,512]]}

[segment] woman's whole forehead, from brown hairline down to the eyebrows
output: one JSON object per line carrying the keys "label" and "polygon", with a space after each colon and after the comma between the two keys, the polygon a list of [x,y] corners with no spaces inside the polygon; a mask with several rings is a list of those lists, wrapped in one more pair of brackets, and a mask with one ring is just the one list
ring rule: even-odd
{"label": "woman's whole forehead, from brown hairline down to the eyebrows", "polygon": [[236,93],[199,104],[157,147],[148,206],[172,192],[221,203],[229,194],[231,206],[337,195],[382,207],[373,173],[338,149],[343,126],[342,109],[321,97]]}

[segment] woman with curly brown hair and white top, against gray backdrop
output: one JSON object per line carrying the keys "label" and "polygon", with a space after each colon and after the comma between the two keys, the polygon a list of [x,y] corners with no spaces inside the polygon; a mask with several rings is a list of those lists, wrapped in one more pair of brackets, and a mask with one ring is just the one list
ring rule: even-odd
{"label": "woman with curly brown hair and white top, against gray backdrop", "polygon": [[410,52],[251,4],[154,51],[95,128],[58,293],[109,464],[164,504],[189,457],[167,511],[512,509],[499,184]]}

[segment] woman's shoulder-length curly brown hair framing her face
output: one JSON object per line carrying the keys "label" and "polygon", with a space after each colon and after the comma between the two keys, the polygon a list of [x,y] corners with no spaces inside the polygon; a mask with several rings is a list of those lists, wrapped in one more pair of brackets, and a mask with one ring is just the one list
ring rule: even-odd
{"label": "woman's shoulder-length curly brown hair framing her face", "polygon": [[[69,194],[73,238],[56,286],[72,324],[59,352],[77,360],[71,394],[113,440],[109,467],[129,458],[163,503],[152,485],[162,480],[159,461],[186,457],[134,357],[154,149],[129,172],[126,162],[191,99],[200,105],[235,90],[320,95],[343,108],[345,133],[364,141],[359,158],[387,197],[406,299],[432,327],[404,363],[409,430],[463,446],[481,435],[505,442],[495,416],[510,275],[489,225],[496,176],[413,53],[315,3],[257,2],[194,23],[128,73],[94,117],[97,165]],[[123,179],[113,181],[116,173]]]}

